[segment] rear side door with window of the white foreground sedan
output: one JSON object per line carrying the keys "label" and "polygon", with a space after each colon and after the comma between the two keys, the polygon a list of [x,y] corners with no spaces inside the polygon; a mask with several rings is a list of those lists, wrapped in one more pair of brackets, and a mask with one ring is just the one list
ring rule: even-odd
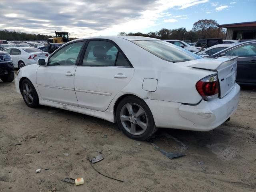
{"label": "rear side door with window of the white foreground sedan", "polygon": [[82,108],[105,111],[132,79],[134,68],[110,40],[89,40],[76,69],[75,91]]}

